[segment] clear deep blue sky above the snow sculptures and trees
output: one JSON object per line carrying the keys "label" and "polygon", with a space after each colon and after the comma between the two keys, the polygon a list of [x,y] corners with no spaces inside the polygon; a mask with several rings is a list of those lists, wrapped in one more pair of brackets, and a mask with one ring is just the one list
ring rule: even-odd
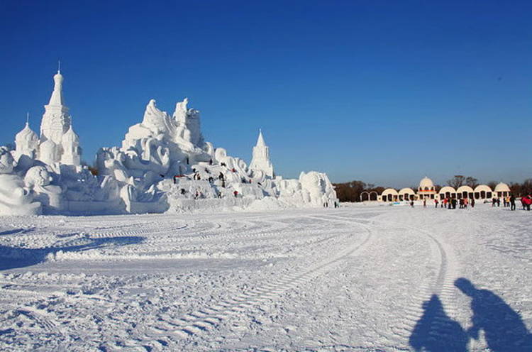
{"label": "clear deep blue sky above the snow sculptures and trees", "polygon": [[[93,4],[97,3],[97,4]],[[411,186],[532,177],[532,1],[0,1],[0,143],[38,131],[57,59],[92,163],[149,99],[276,171]]]}

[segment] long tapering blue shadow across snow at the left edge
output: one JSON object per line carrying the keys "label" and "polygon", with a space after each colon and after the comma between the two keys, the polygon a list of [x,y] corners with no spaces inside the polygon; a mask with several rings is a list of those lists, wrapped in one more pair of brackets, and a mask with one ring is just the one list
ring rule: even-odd
{"label": "long tapering blue shadow across snow at the left edge", "polygon": [[0,245],[0,270],[24,268],[45,261],[49,254],[62,252],[81,252],[105,246],[126,246],[141,243],[143,237],[121,236],[110,238],[79,238],[62,246],[46,248],[16,248]]}

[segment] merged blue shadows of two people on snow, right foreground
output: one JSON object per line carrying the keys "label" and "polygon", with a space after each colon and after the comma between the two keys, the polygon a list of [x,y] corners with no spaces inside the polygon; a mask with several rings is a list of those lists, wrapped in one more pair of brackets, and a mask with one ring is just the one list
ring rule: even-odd
{"label": "merged blue shadows of two people on snow, right foreground", "polygon": [[423,316],[417,321],[409,339],[414,351],[466,352],[470,339],[479,339],[484,331],[492,352],[530,352],[532,334],[521,316],[489,290],[478,290],[470,280],[460,277],[455,286],[472,298],[472,326],[466,330],[445,314],[438,295],[423,302]]}

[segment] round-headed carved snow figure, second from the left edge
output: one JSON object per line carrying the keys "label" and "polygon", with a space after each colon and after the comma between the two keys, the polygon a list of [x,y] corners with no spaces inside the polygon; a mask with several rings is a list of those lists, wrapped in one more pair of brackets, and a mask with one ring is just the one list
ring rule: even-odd
{"label": "round-headed carved snow figure, second from the left edge", "polygon": [[35,193],[35,200],[43,204],[43,211],[58,213],[62,210],[62,189],[60,186],[50,185],[50,172],[44,166],[33,166],[24,177],[26,187]]}

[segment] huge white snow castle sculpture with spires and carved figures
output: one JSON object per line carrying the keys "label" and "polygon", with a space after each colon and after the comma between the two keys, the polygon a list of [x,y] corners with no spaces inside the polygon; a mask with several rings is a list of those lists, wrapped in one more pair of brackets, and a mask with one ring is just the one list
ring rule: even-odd
{"label": "huge white snow castle sculpture with spires and carved figures", "polygon": [[[65,106],[60,70],[40,124],[28,121],[16,148],[0,147],[0,215],[127,214],[321,206],[337,200],[326,174],[275,175],[262,131],[253,160],[231,157],[201,134],[199,111],[188,99],[173,114],[150,100],[120,147],[100,148],[96,173],[81,165],[82,148]],[[94,170],[93,170],[94,171]],[[262,205],[261,205],[262,204]]]}

